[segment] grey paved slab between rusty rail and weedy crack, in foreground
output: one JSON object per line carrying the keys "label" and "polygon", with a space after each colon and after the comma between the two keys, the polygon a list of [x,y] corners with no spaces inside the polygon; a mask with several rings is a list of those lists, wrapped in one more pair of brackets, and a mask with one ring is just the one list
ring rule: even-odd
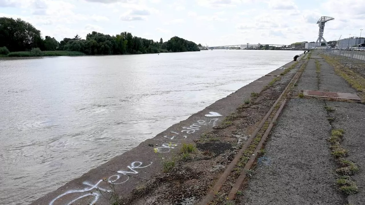
{"label": "grey paved slab between rusty rail and weedy crack, in foreground", "polygon": [[[236,204],[345,204],[335,185],[336,164],[326,140],[331,126],[324,101],[290,100],[260,163]],[[239,201],[239,202],[238,202]]]}

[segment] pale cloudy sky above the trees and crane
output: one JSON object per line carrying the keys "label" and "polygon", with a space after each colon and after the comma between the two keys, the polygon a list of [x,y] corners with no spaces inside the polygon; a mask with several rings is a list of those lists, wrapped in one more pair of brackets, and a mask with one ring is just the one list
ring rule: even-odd
{"label": "pale cloudy sky above the trees and crane", "polygon": [[[360,36],[365,0],[0,0],[0,17],[21,18],[58,41],[92,31],[208,46],[327,41]],[[365,32],[363,34],[365,37]]]}

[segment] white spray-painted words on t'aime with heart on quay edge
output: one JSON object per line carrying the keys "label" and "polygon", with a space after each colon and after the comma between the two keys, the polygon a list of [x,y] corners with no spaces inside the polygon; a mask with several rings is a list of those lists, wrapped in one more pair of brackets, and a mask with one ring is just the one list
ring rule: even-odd
{"label": "white spray-painted words on t'aime with heart on quay edge", "polygon": [[[218,116],[222,116],[222,115],[220,115],[218,112],[209,112],[209,114],[207,114],[205,116],[206,117],[218,117]],[[183,127],[180,132],[170,132],[174,135],[172,135],[172,134],[168,135],[168,136],[165,135],[164,138],[167,138],[170,140],[184,140],[188,137],[187,134],[195,133],[195,131],[200,130],[201,126],[212,125],[214,127],[218,120],[219,120],[218,118],[214,118],[209,121],[208,120],[197,120],[196,123],[193,123],[189,127]],[[160,153],[166,153],[166,152],[170,152],[171,149],[174,149],[175,146],[177,146],[177,145],[173,144],[173,146],[171,146],[171,143],[162,144],[161,147],[154,148],[154,150],[156,150],[157,152],[160,152]]]}

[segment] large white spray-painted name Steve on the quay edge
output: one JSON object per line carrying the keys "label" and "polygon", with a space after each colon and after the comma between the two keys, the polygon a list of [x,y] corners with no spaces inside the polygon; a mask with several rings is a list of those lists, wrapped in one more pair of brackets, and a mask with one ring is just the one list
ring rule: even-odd
{"label": "large white spray-painted name Steve on the quay edge", "polygon": [[[128,181],[129,176],[127,174],[138,174],[138,171],[136,169],[141,169],[141,168],[145,168],[148,167],[152,164],[152,162],[149,165],[146,166],[142,166],[142,162],[132,162],[130,166],[127,166],[129,170],[127,171],[117,171],[118,173],[120,173],[121,175],[112,175],[107,179],[107,182],[112,183],[114,185],[118,185],[118,184],[122,184]],[[95,204],[97,202],[97,200],[99,200],[100,198],[100,193],[99,191],[97,191],[97,189],[103,191],[103,192],[111,192],[111,190],[109,189],[105,189],[103,187],[101,187],[100,183],[103,182],[103,179],[100,179],[97,183],[92,184],[91,182],[85,181],[82,182],[82,184],[86,185],[86,187],[84,189],[74,189],[74,190],[68,190],[67,192],[58,195],[56,198],[54,198],[49,205],[53,205],[55,202],[57,201],[61,201],[63,196],[66,196],[68,194],[72,194],[72,193],[82,193],[81,196],[78,196],[74,199],[70,199],[70,201],[68,201],[67,205],[73,204],[74,202],[85,198],[85,197],[90,197],[92,199],[91,204]],[[94,190],[94,192],[93,192]],[[64,202],[64,200],[62,200]]]}

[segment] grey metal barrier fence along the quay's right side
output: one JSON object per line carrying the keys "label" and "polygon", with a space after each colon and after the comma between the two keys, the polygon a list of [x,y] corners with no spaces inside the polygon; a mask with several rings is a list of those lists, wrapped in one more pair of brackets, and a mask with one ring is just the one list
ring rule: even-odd
{"label": "grey metal barrier fence along the quay's right side", "polygon": [[342,64],[350,65],[351,63],[365,63],[365,50],[337,50],[337,49],[323,49],[323,54],[341,60]]}

